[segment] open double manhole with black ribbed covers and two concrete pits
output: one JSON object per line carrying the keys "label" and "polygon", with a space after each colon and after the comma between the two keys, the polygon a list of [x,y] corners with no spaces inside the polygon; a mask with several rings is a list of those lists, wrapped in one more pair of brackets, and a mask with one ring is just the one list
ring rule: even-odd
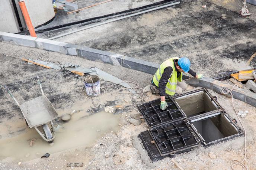
{"label": "open double manhole with black ribbed covers and two concrete pits", "polygon": [[160,99],[138,105],[151,128],[139,137],[152,161],[217,144],[243,134],[207,89],[166,97],[168,107],[161,111]]}

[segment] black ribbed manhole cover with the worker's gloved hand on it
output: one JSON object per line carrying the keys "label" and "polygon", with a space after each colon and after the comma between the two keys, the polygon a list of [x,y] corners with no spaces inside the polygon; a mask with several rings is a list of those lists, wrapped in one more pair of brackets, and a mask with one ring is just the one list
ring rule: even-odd
{"label": "black ribbed manhole cover with the worker's gloved hand on it", "polygon": [[166,102],[168,107],[164,111],[160,109],[160,99],[146,102],[138,106],[150,127],[156,127],[171,121],[178,121],[185,117],[170,97],[166,97]]}

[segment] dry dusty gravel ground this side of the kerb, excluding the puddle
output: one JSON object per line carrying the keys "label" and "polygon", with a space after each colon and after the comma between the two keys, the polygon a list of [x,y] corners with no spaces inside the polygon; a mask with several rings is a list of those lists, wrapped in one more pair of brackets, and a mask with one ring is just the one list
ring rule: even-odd
{"label": "dry dusty gravel ground this side of the kerb, excluding the puddle", "polygon": [[[71,111],[76,109],[76,107],[94,108],[91,99],[86,97],[82,78],[67,71],[48,70],[40,66],[28,65],[26,62],[21,61],[20,58],[22,57],[51,61],[58,64],[71,62],[85,68],[97,66],[103,71],[111,73],[122,80],[138,82],[141,86],[149,84],[152,77],[152,75],[120,68],[118,66],[87,61],[54,52],[0,43],[2,66],[0,69],[0,83],[10,88],[14,96],[17,97],[20,102],[24,102],[40,95],[40,90],[36,85],[35,79],[35,74],[40,73],[45,94],[60,113]],[[105,84],[107,85],[108,83]],[[40,159],[39,157],[41,155],[39,155],[35,159],[25,160],[27,153],[23,153],[24,158],[22,160],[10,158],[12,156],[9,158],[3,158],[2,156],[0,161],[1,169],[71,169],[71,167],[66,167],[68,162],[84,162],[84,167],[74,167],[74,169],[177,169],[177,167],[171,163],[170,158],[152,163],[147,156],[147,152],[142,148],[140,140],[137,138],[138,134],[148,129],[147,124],[143,122],[141,125],[134,126],[127,121],[131,115],[138,113],[135,107],[137,104],[153,100],[157,97],[147,92],[143,95],[143,98],[129,101],[127,95],[118,94],[117,89],[119,88],[120,87],[108,89],[103,99],[101,99],[101,97],[93,99],[96,106],[106,101],[119,98],[128,100],[128,104],[122,102],[127,105],[127,107],[125,107],[126,109],[122,109],[121,113],[119,112],[118,114],[120,118],[118,122],[119,128],[117,128],[117,130],[113,130],[112,133],[109,130],[108,132],[104,131],[97,139],[64,151],[55,152],[54,149],[51,148],[58,146],[58,144],[48,146],[47,149],[42,151],[42,153],[49,152],[51,154],[48,159]],[[189,87],[187,91],[192,89],[192,87]],[[230,98],[215,94],[213,91],[210,91],[210,93],[213,96],[217,96],[218,102],[220,102],[221,106],[232,118],[236,118]],[[14,136],[32,131],[26,128],[24,122],[21,121],[23,119],[22,114],[9,95],[4,91],[0,91],[0,95],[0,141],[4,138],[13,138]],[[79,101],[84,102],[84,104],[81,104]],[[255,169],[256,144],[254,134],[256,133],[256,108],[236,99],[234,101],[238,110],[249,111],[249,114],[242,119],[247,131],[247,160],[245,163],[249,169]],[[78,102],[78,104],[76,104],[76,102]],[[14,115],[12,115],[12,113]],[[89,112],[82,112],[80,115],[77,115],[78,117],[74,116],[75,120],[79,119],[79,116],[83,114],[88,116]],[[61,124],[60,121],[55,122]],[[71,123],[76,123],[76,121]],[[7,124],[9,124],[10,127],[8,127]],[[7,131],[7,134],[3,128],[6,126],[11,130],[9,132]],[[188,153],[176,156],[174,160],[184,169],[229,170],[231,169],[233,158],[241,160],[243,157],[243,141],[244,137],[238,137],[234,140],[219,143],[208,148],[199,146]],[[76,141],[73,141],[73,143],[76,143]],[[2,143],[1,147],[4,146],[7,145]],[[40,146],[34,145],[32,147]],[[210,158],[209,153],[211,152],[217,158]],[[106,153],[110,154],[107,158],[105,156]],[[18,162],[22,162],[22,164],[18,166]],[[236,169],[238,170],[240,167]]]}

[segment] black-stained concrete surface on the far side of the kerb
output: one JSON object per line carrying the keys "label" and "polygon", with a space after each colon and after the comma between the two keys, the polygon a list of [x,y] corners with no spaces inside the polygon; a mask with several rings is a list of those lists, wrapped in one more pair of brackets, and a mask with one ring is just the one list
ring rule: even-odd
{"label": "black-stained concrete surface on the far side of the kerb", "polygon": [[[202,8],[204,4],[206,8]],[[56,40],[154,63],[188,56],[193,70],[214,78],[223,72],[256,67],[256,59],[246,65],[255,53],[255,30],[256,23],[239,13],[209,1],[185,0]]]}

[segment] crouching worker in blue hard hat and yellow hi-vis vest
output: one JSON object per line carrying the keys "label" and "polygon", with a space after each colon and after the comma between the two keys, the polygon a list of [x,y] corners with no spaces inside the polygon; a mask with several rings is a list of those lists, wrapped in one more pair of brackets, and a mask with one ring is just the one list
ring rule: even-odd
{"label": "crouching worker in blue hard hat and yellow hi-vis vest", "polygon": [[157,69],[150,85],[153,95],[160,95],[161,110],[165,110],[168,106],[165,101],[166,95],[181,94],[187,88],[185,81],[182,81],[182,73],[188,72],[195,78],[203,78],[203,74],[197,74],[190,69],[190,61],[188,58],[169,58]]}

